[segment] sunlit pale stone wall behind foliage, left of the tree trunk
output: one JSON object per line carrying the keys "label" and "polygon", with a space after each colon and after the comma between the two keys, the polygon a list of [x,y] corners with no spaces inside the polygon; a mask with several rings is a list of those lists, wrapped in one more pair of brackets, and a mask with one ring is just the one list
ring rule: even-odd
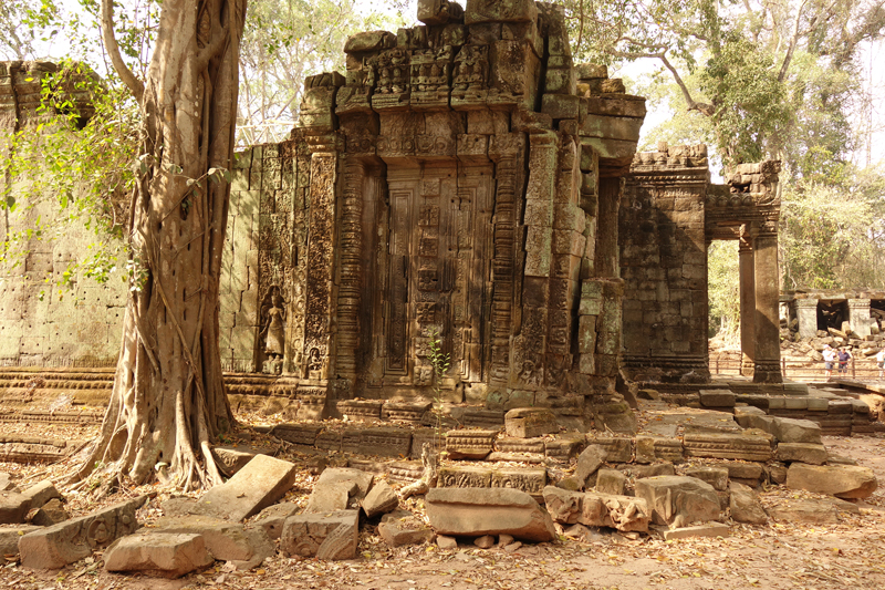
{"label": "sunlit pale stone wall behind foliage, left of the tree trunk", "polygon": [[[58,71],[49,62],[0,62],[0,135],[17,131],[38,133],[40,123],[51,125],[51,112],[39,111],[43,76]],[[87,96],[62,89],[88,116]],[[6,142],[0,145],[8,148]],[[21,186],[28,179],[11,178],[8,153],[0,154],[0,183]],[[39,182],[39,179],[37,179]],[[58,215],[54,199],[33,208],[0,211],[0,239],[10,231],[33,228],[41,216]],[[126,286],[119,281],[98,284],[75,278],[73,288],[60,293],[59,281],[76,256],[93,241],[83,228],[71,227],[56,239],[34,235],[21,248],[23,260],[0,267],[0,364],[108,366],[116,362],[123,325]]]}

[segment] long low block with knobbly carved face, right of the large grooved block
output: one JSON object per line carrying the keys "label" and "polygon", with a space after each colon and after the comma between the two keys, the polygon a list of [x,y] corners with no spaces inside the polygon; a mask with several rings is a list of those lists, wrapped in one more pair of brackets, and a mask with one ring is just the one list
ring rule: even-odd
{"label": "long low block with knobbly carved face, right of the large grooved block", "polygon": [[642,498],[596,491],[579,494],[553,486],[544,488],[544,505],[551,518],[562,525],[581,524],[645,532],[652,518],[648,504]]}

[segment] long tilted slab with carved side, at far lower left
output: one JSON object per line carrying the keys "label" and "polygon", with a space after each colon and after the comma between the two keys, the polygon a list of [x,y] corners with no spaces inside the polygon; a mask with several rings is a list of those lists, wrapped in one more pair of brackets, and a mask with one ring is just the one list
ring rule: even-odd
{"label": "long tilted slab with carved side, at far lower left", "polygon": [[115,504],[86,516],[29,532],[19,540],[22,566],[31,569],[59,569],[138,528],[135,510],[146,496]]}

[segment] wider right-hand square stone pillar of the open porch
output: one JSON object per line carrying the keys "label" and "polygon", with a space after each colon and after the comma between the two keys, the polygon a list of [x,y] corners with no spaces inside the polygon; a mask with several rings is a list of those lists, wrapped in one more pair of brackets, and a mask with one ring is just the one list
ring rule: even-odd
{"label": "wider right-hand square stone pillar of the open porch", "polygon": [[756,283],[754,383],[781,383],[780,318],[778,314],[778,222],[767,221],[753,239]]}

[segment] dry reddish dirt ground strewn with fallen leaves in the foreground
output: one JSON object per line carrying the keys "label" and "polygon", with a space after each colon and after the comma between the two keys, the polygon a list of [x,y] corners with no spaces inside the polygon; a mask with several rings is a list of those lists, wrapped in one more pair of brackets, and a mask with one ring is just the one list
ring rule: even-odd
{"label": "dry reddish dirt ground strewn with fallen leaves in the foreground", "polygon": [[[248,423],[248,417],[244,422]],[[87,439],[97,429],[2,425],[2,431],[8,433],[35,434],[38,428],[45,435],[69,441]],[[851,456],[873,468],[885,486],[885,438],[882,435],[826,437],[824,443],[834,453]],[[285,499],[306,501],[315,479],[308,464],[315,457],[285,448],[279,456],[304,466],[295,488]],[[342,456],[330,457],[333,465],[345,460]],[[9,472],[28,485],[46,476],[59,482],[73,466],[73,460],[51,467],[0,463],[0,470]],[[102,504],[144,493],[156,494],[139,514],[139,519],[149,524],[160,516],[159,501],[168,497],[170,490],[156,485],[143,486],[121,491]],[[73,515],[86,514],[96,507],[87,494],[65,495]],[[762,499],[771,504],[810,496],[773,487],[762,494]],[[860,515],[842,513],[837,525],[731,522],[730,537],[677,541],[665,541],[657,534],[628,538],[602,530],[591,542],[563,537],[553,544],[524,545],[513,552],[497,548],[482,550],[472,545],[460,545],[451,551],[433,545],[388,549],[372,524],[366,524],[361,535],[360,557],[351,561],[322,562],[277,556],[251,572],[233,571],[216,562],[214,568],[201,573],[179,580],[158,580],[107,573],[102,569],[101,556],[96,555],[54,572],[35,572],[17,562],[7,563],[0,567],[0,589],[882,589],[885,588],[885,490],[877,490],[860,507]],[[409,500],[406,508],[423,514],[420,499]]]}

